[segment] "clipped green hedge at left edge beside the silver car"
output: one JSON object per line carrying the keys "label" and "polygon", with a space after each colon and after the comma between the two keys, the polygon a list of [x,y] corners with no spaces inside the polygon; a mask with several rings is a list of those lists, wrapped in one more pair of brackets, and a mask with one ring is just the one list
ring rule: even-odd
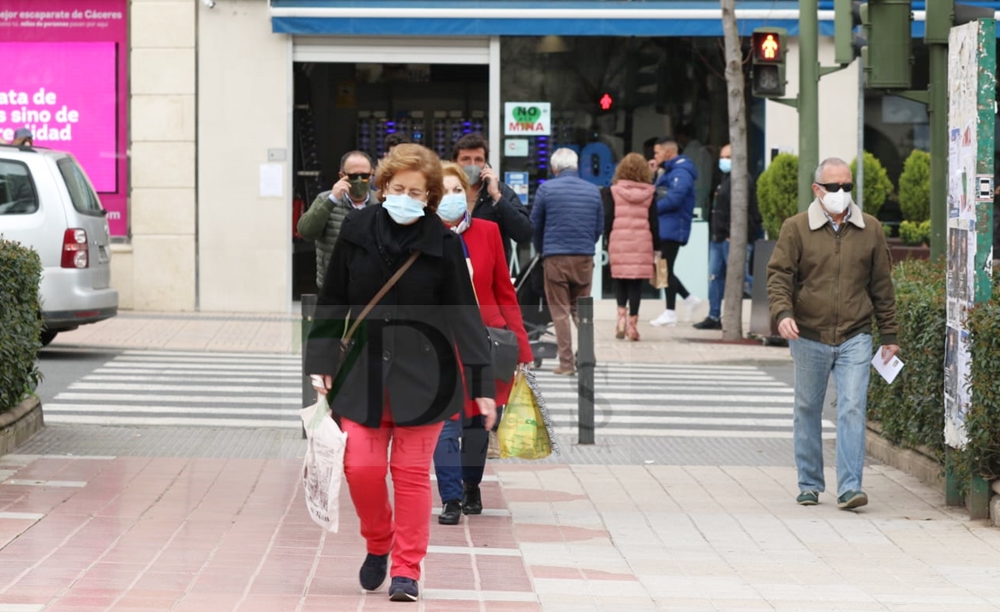
{"label": "clipped green hedge at left edge beside the silver car", "polygon": [[41,379],[41,278],[38,254],[0,236],[0,412],[20,403]]}

